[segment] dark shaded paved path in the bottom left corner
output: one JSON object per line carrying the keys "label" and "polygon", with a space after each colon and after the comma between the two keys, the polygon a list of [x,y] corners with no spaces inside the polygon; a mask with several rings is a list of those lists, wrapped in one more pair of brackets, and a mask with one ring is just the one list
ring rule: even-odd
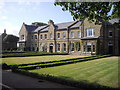
{"label": "dark shaded paved path in the bottom left corner", "polygon": [[12,88],[73,88],[70,86],[61,85],[54,82],[49,82],[45,80],[40,80],[11,71],[2,71],[2,83],[3,85]]}

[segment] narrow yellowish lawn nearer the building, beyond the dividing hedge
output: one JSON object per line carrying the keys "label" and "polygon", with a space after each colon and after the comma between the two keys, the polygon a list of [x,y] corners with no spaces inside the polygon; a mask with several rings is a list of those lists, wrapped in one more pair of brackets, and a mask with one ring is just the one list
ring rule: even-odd
{"label": "narrow yellowish lawn nearer the building, beyond the dividing hedge", "polygon": [[48,55],[48,56],[30,56],[30,57],[9,57],[2,58],[2,63],[11,64],[26,64],[35,62],[54,61],[70,58],[85,57],[80,55]]}

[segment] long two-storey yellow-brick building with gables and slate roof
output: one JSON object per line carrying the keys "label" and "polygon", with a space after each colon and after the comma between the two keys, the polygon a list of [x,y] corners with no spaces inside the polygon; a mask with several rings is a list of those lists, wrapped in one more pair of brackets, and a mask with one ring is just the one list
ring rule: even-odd
{"label": "long two-storey yellow-brick building with gables and slate roof", "polygon": [[73,54],[119,54],[120,32],[114,25],[119,18],[100,25],[87,19],[36,26],[23,23],[19,32],[20,50],[68,52]]}

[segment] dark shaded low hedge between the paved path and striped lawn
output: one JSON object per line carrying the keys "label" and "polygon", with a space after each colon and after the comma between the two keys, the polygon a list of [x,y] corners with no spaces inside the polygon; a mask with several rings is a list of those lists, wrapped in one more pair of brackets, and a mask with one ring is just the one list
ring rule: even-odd
{"label": "dark shaded low hedge between the paved path and striped lawn", "polygon": [[103,86],[100,84],[97,84],[96,82],[90,83],[87,80],[81,80],[81,81],[75,81],[73,78],[67,77],[67,76],[52,76],[49,74],[38,74],[38,73],[32,73],[27,70],[22,70],[22,69],[15,69],[12,70],[13,72],[24,74],[33,78],[38,78],[38,79],[43,79],[43,80],[48,80],[56,83],[60,83],[63,85],[68,85],[76,88],[80,88],[83,90],[118,90],[118,88],[112,88],[112,87],[107,87]]}

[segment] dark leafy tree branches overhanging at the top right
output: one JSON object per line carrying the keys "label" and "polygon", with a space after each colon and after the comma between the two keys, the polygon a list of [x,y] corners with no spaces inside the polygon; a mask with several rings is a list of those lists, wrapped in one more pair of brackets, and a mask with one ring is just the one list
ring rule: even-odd
{"label": "dark leafy tree branches overhanging at the top right", "polygon": [[[69,11],[73,19],[99,23],[99,19],[108,21],[111,18],[120,17],[120,2],[60,2],[55,1],[54,5],[62,7],[63,11]],[[111,13],[109,13],[112,11]]]}

